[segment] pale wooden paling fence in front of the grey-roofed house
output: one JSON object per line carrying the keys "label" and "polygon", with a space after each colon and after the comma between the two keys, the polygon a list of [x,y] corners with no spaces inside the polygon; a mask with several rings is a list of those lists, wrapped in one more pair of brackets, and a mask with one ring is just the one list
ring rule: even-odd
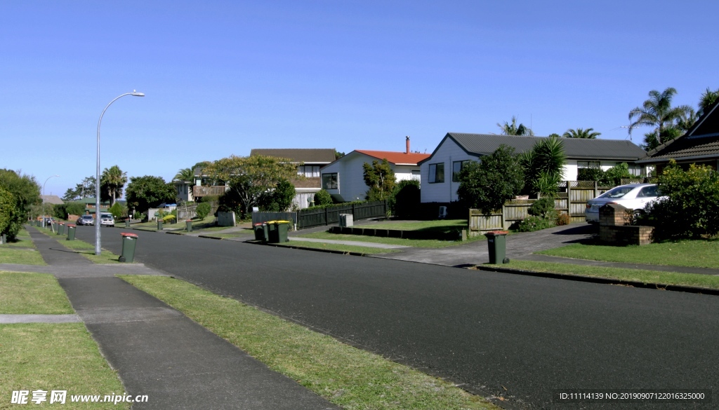
{"label": "pale wooden paling fence in front of the grey-roofed house", "polygon": [[[558,197],[554,200],[554,209],[569,215],[571,222],[585,222],[587,201],[610,190],[599,187],[596,181],[563,181],[559,184]],[[529,207],[536,200],[510,200],[501,210],[484,215],[480,210],[470,209],[470,236],[481,235],[490,230],[506,230],[520,223],[529,213]]]}

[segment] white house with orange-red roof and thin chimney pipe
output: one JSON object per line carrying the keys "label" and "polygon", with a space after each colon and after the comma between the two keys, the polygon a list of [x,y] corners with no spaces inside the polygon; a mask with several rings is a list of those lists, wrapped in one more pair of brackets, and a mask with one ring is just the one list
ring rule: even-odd
{"label": "white house with orange-red roof and thin chimney pipe", "polygon": [[322,168],[322,188],[338,201],[364,200],[369,189],[363,177],[362,165],[365,162],[372,164],[372,161],[387,159],[398,182],[410,179],[421,181],[418,163],[427,157],[429,154],[410,152],[409,137],[406,152],[356,149]]}

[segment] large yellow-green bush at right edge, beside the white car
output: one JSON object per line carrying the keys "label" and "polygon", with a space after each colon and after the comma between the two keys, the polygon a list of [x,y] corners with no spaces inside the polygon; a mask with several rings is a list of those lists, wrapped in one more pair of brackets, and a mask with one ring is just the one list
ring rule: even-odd
{"label": "large yellow-green bush at right edge, beside the white car", "polygon": [[657,182],[667,198],[650,202],[638,223],[655,227],[654,238],[678,239],[719,233],[719,173],[691,164],[683,171],[673,160]]}

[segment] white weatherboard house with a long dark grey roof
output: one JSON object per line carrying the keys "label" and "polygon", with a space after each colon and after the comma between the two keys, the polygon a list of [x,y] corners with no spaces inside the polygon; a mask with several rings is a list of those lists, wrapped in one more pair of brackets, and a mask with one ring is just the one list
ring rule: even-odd
{"label": "white weatherboard house with a long dark grey roof", "polygon": [[[480,161],[504,144],[515,149],[516,154],[530,151],[536,141],[546,136],[509,136],[496,134],[462,134],[450,132],[434,149],[431,156],[420,163],[422,174],[422,202],[449,203],[456,201],[457,174],[468,161]],[[633,174],[646,174],[646,169],[636,164],[644,158],[644,149],[630,141],[618,139],[562,138],[567,164],[562,180],[577,180],[577,169],[610,169],[626,162]]]}

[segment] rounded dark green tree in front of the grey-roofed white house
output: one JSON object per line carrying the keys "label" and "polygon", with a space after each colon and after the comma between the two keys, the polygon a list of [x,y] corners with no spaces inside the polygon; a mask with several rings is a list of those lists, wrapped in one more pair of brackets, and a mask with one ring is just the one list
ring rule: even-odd
{"label": "rounded dark green tree in front of the grey-roofed white house", "polygon": [[514,149],[500,145],[481,162],[472,161],[459,172],[457,195],[467,208],[482,213],[501,209],[504,202],[522,190],[524,177]]}

